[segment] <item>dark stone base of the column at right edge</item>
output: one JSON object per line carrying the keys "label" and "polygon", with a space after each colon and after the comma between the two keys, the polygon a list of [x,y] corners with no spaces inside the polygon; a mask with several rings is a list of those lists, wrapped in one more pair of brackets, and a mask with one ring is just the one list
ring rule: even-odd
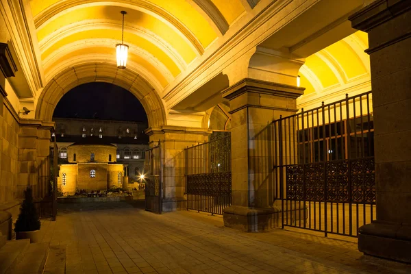
{"label": "dark stone base of the column at right edge", "polygon": [[411,263],[411,225],[373,221],[358,229],[358,250],[361,252]]}

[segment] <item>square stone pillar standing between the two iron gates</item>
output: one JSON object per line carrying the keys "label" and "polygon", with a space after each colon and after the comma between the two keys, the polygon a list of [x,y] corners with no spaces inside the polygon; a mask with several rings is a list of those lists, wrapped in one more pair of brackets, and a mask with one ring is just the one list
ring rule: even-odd
{"label": "square stone pillar standing between the two iron gates", "polygon": [[264,130],[280,116],[297,112],[296,99],[303,90],[249,78],[223,90],[232,114],[232,206],[223,214],[227,227],[260,232],[280,225],[281,208],[273,205],[275,186],[267,179],[272,173],[267,159],[275,155]]}

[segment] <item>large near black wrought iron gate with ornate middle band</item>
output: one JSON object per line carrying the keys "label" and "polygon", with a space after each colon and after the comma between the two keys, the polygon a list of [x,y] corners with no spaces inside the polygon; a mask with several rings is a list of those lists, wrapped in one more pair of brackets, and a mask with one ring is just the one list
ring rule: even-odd
{"label": "large near black wrought iron gate with ornate middle band", "polygon": [[375,219],[371,92],[271,124],[283,227],[357,236]]}

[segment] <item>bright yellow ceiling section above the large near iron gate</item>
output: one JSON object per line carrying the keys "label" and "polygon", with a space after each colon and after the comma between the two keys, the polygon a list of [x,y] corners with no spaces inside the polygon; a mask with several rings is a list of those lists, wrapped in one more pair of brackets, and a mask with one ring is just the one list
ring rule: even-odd
{"label": "bright yellow ceiling section above the large near iron gate", "polygon": [[370,75],[368,38],[364,32],[356,32],[306,58],[299,75],[304,95],[341,88]]}

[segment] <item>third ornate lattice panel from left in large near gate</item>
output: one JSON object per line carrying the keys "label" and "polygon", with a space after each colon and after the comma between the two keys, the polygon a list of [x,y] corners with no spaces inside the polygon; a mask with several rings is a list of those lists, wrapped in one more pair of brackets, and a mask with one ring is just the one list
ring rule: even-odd
{"label": "third ornate lattice panel from left in large near gate", "polygon": [[348,161],[327,162],[327,201],[349,201]]}

